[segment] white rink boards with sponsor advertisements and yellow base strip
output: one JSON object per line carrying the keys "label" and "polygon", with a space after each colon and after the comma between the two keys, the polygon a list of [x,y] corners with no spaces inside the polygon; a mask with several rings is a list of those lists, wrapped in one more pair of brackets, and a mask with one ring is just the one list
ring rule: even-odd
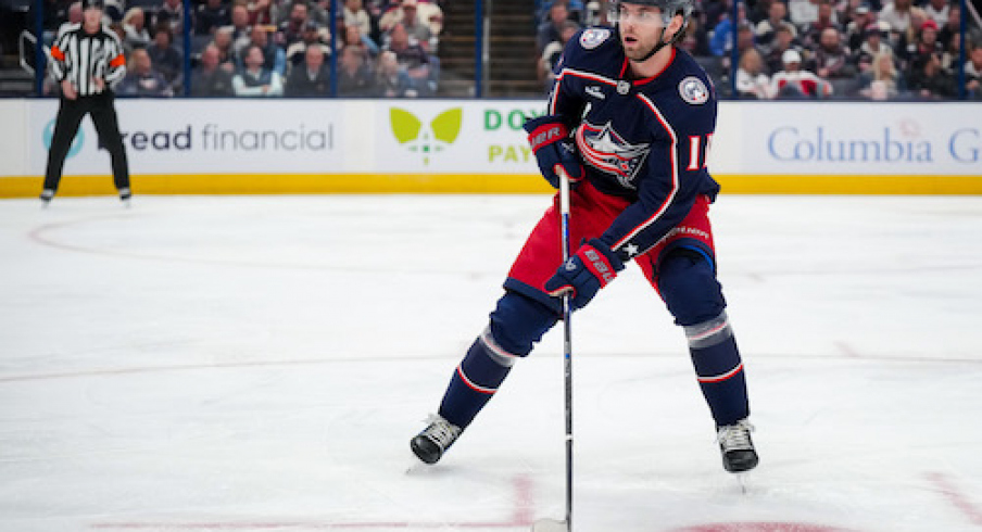
{"label": "white rink boards with sponsor advertisements and yellow base strip", "polygon": [[[543,100],[117,100],[137,193],[533,193]],[[55,100],[0,101],[0,198],[36,195]],[[680,142],[687,141],[679,139]],[[721,102],[729,193],[982,193],[978,103]],[[112,193],[84,122],[60,193]]]}

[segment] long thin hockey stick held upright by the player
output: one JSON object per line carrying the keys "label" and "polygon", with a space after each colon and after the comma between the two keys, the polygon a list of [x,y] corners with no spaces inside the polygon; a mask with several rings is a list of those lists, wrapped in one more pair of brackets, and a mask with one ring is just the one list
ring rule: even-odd
{"label": "long thin hockey stick held upright by the player", "polygon": [[[569,259],[569,175],[561,165],[555,166],[559,176],[559,240],[563,248],[563,264]],[[532,532],[570,532],[572,530],[572,328],[569,317],[571,294],[563,296],[563,373],[566,396],[566,519],[539,519],[532,524]]]}

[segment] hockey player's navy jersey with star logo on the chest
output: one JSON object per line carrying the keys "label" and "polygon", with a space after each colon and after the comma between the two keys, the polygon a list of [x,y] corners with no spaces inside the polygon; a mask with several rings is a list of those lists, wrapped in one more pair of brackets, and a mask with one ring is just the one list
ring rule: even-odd
{"label": "hockey player's navy jersey with star logo on the chest", "polygon": [[644,253],[678,225],[700,194],[719,186],[706,169],[717,100],[705,71],[683,50],[646,79],[631,79],[616,30],[589,28],[566,46],[549,113],[565,117],[597,190],[631,201],[601,240],[622,259]]}

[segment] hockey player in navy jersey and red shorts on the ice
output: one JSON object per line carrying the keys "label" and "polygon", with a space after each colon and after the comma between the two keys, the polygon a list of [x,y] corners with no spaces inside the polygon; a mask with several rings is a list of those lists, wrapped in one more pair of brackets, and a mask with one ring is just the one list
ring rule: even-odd
{"label": "hockey player in navy jersey and red shorts on the ice", "polygon": [[547,114],[526,123],[543,176],[574,181],[563,264],[557,202],[532,230],[504,295],[451,377],[439,415],[411,441],[437,463],[488,403],[513,365],[562,316],[582,308],[634,261],[681,326],[715,420],[726,470],[757,465],[743,363],[716,280],[708,208],[719,186],[706,169],[716,93],[675,46],[693,0],[615,1],[614,28],[570,39],[556,67]]}

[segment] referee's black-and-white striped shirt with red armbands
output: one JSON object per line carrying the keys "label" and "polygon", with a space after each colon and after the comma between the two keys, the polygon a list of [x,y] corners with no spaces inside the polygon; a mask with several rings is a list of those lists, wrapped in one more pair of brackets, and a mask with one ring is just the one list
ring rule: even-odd
{"label": "referee's black-and-white striped shirt with red armbands", "polygon": [[93,81],[97,77],[111,86],[126,75],[123,45],[105,26],[100,26],[96,34],[87,34],[80,23],[66,26],[51,47],[51,59],[54,79],[72,81],[78,96],[101,92]]}

